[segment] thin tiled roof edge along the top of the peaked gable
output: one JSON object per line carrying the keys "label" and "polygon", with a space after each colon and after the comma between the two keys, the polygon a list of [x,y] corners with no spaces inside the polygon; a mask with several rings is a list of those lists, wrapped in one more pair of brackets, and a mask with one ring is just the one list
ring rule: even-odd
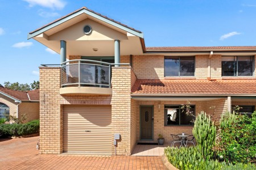
{"label": "thin tiled roof edge along the top of the peaked gable", "polygon": [[123,25],[123,27],[129,28],[129,29],[133,29],[133,31],[142,33],[141,31],[138,31],[137,29],[131,28],[131,27],[125,25],[125,24],[122,24],[122,23],[120,23],[120,22],[117,22],[117,21],[114,20],[114,19],[108,18],[107,16],[101,15],[100,13],[95,12],[95,11],[93,11],[93,10],[90,10],[90,9],[88,9],[88,8],[86,8],[86,7],[82,7],[82,8],[80,8],[79,10],[73,11],[73,12],[71,12],[71,13],[68,14],[68,15],[65,15],[65,16],[63,16],[63,17],[61,17],[61,18],[59,18],[59,19],[54,20],[54,21],[51,22],[51,23],[48,23],[48,24],[44,25],[43,27],[40,27],[40,28],[38,28],[38,29],[35,29],[34,31],[31,31],[30,33],[34,33],[34,32],[36,32],[36,31],[38,31],[38,30],[40,30],[40,29],[43,29],[44,27],[47,27],[48,25],[51,25],[51,24],[53,24],[53,23],[55,23],[55,22],[58,22],[59,20],[61,20],[61,19],[63,19],[63,18],[66,18],[66,17],[68,17],[68,16],[70,16],[70,15],[72,15],[72,14],[75,14],[76,12],[81,11],[81,10],[84,10],[84,9],[85,9],[85,10],[88,10],[88,11],[90,11],[90,12],[93,12],[94,14],[100,15],[100,16],[102,16],[103,18],[106,18],[106,19],[108,19],[108,20],[111,20],[111,21],[113,21],[113,22],[115,22],[115,23],[117,23],[117,24]]}

